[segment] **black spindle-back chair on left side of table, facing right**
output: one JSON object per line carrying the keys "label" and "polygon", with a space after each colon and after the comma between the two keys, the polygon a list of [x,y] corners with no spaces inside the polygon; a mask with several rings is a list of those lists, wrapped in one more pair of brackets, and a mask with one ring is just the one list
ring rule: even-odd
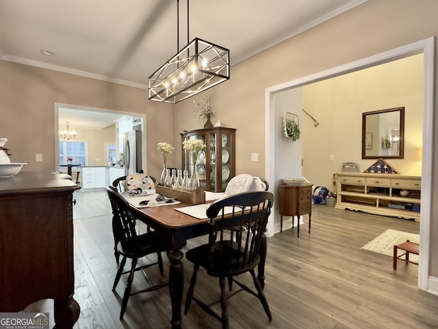
{"label": "black spindle-back chair on left side of table, facing right", "polygon": [[[133,217],[129,211],[129,204],[121,195],[118,194],[117,188],[114,186],[107,187],[107,194],[110,198],[110,203],[112,206],[113,213],[113,233],[114,239],[117,241],[116,251],[120,256],[123,256],[122,261],[118,264],[118,270],[116,273],[116,278],[114,279],[114,284],[112,290],[115,291],[117,284],[123,276],[123,274],[129,273],[127,286],[125,288],[125,293],[123,294],[122,308],[120,310],[120,320],[123,319],[125,310],[127,308],[127,303],[129,296],[137,295],[138,293],[145,293],[149,291],[154,291],[162,287],[168,286],[168,283],[164,284],[152,284],[144,269],[151,267],[153,265],[159,266],[159,271],[164,275],[163,270],[163,258],[162,252],[168,252],[170,249],[170,243],[167,239],[156,231],[149,231],[144,234],[137,234],[136,232],[136,218]],[[157,254],[157,261],[153,263],[148,263],[146,265],[137,266],[138,259],[149,254]],[[131,269],[129,271],[123,271],[127,258],[131,258]],[[117,259],[117,257],[116,257]],[[118,262],[117,262],[118,263]],[[144,273],[144,278],[149,283],[149,287],[141,291],[136,291],[131,293],[131,284],[133,282],[134,273],[136,271],[142,271]]]}

